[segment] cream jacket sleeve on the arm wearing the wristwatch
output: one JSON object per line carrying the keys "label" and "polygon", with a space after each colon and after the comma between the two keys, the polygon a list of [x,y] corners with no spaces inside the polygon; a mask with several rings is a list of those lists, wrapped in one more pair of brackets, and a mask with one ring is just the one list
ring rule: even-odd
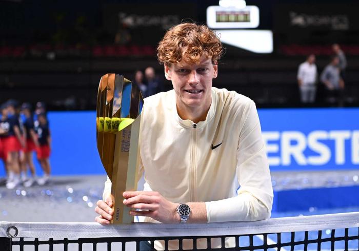
{"label": "cream jacket sleeve on the arm wearing the wristwatch", "polygon": [[270,217],[273,189],[262,139],[261,125],[253,101],[243,112],[245,121],[237,149],[238,195],[206,202],[208,222],[255,221]]}

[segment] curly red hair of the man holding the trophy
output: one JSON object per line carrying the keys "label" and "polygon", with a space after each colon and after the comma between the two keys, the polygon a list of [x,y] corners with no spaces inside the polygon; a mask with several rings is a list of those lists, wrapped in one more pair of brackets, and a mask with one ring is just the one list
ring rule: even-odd
{"label": "curly red hair of the man holding the trophy", "polygon": [[173,26],[157,47],[159,63],[168,66],[181,60],[193,64],[204,53],[217,64],[223,54],[222,43],[207,26],[193,23]]}

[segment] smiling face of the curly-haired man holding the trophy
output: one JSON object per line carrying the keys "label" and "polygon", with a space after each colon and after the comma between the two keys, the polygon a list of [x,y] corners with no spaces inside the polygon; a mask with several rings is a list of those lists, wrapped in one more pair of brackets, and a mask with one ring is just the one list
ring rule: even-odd
{"label": "smiling face of the curly-haired man holding the trophy", "polygon": [[212,79],[217,77],[217,66],[202,55],[195,64],[181,61],[165,65],[165,76],[172,81],[177,106],[207,107],[211,103]]}

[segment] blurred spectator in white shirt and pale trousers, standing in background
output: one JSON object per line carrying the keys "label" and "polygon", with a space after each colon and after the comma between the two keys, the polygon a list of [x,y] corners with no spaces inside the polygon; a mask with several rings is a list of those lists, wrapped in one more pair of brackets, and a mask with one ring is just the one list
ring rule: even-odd
{"label": "blurred spectator in white shirt and pale trousers, standing in background", "polygon": [[298,68],[297,80],[302,103],[313,103],[315,101],[317,70],[314,62],[315,55],[310,54]]}

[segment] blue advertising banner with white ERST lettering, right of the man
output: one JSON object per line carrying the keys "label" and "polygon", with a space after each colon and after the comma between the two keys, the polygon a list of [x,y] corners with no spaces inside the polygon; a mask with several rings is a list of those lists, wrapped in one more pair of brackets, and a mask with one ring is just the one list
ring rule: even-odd
{"label": "blue advertising banner with white ERST lettering, right of the man", "polygon": [[262,109],[271,171],[359,168],[359,109]]}

